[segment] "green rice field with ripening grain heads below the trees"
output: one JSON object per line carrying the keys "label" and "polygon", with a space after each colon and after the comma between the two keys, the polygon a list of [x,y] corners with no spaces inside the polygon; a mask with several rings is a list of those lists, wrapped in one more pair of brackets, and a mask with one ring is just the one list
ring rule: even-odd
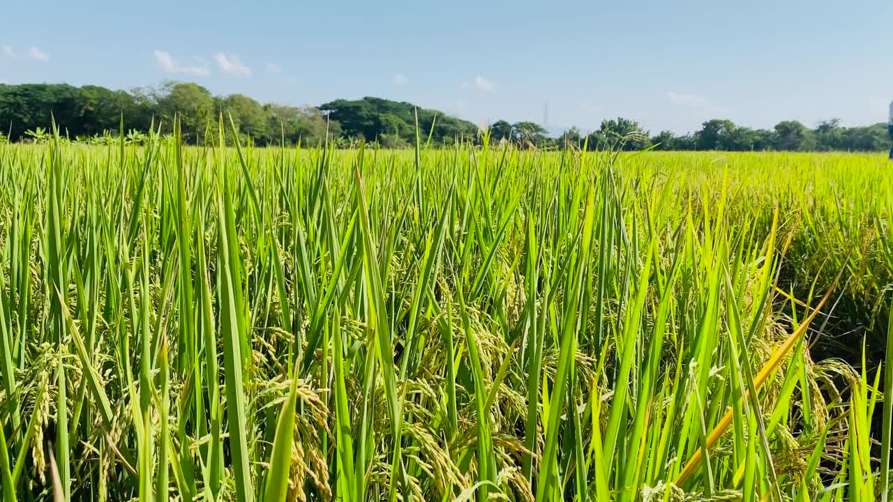
{"label": "green rice field with ripening grain heads below the trees", "polygon": [[889,500],[891,187],[883,155],[0,146],[0,499]]}

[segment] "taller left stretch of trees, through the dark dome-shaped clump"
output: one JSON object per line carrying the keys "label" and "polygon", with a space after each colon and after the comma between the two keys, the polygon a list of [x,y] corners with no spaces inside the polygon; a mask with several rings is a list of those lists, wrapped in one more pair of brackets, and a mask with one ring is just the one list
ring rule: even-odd
{"label": "taller left stretch of trees, through the dark dome-shaped clump", "polygon": [[153,126],[170,133],[176,116],[182,137],[204,144],[216,140],[221,113],[225,121],[231,116],[240,136],[255,145],[317,145],[329,139],[338,146],[376,141],[388,147],[411,146],[416,120],[419,130],[426,131],[426,141],[430,132],[430,141],[437,145],[478,136],[478,126],[470,121],[378,97],[298,107],[261,104],[242,94],[213,96],[198,84],[176,81],[129,92],[68,84],[0,84],[0,134],[12,141],[48,137],[53,121],[63,135],[83,142],[116,137],[122,120],[129,138],[145,138]]}

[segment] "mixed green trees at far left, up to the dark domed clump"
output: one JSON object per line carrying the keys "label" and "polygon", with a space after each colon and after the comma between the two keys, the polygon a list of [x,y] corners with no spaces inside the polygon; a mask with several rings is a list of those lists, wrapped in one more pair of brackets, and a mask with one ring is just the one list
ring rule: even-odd
{"label": "mixed green trees at far left, up to the dark domed clump", "polygon": [[231,114],[243,136],[259,145],[279,145],[283,139],[288,145],[299,139],[316,145],[325,141],[327,131],[332,138],[340,135],[338,124],[327,124],[315,108],[261,105],[241,94],[213,96],[192,83],[167,82],[131,92],[67,84],[0,84],[0,130],[13,140],[48,138],[54,119],[68,138],[108,142],[110,131],[117,136],[122,117],[128,130],[145,139],[153,123],[170,132],[176,114],[184,140],[204,144],[215,138],[216,132],[205,138],[205,131],[216,131],[221,112]]}

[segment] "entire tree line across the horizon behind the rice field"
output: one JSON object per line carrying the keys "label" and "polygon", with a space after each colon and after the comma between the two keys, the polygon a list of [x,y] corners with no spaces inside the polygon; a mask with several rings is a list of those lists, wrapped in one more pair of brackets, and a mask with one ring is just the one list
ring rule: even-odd
{"label": "entire tree line across the horizon behind the rice field", "polygon": [[[416,127],[421,139],[446,146],[456,141],[480,144],[511,142],[527,148],[576,147],[625,150],[654,147],[660,150],[729,151],[881,151],[889,148],[883,123],[844,127],[839,120],[822,121],[809,128],[798,121],[781,121],[771,130],[751,129],[729,120],[705,121],[700,130],[677,135],[664,130],[655,135],[641,130],[637,121],[616,118],[601,122],[588,134],[578,128],[551,137],[531,121],[496,121],[482,134],[471,121],[379,97],[338,99],[319,106],[261,104],[242,94],[214,96],[195,83],[168,81],[157,88],[130,91],[68,84],[0,84],[0,141],[22,141],[46,136],[54,120],[68,138],[101,142],[117,136],[121,118],[129,137],[142,138],[153,124],[171,131],[179,117],[183,138],[204,144],[216,138],[221,113],[232,116],[240,135],[256,145],[316,145],[329,140],[338,146],[377,142],[386,147],[413,146]],[[209,132],[210,131],[210,132]],[[210,133],[210,137],[206,137]]]}

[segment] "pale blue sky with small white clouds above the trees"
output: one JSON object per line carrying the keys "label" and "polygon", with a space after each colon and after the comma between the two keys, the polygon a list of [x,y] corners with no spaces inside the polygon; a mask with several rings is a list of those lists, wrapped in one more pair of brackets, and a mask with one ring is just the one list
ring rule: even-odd
{"label": "pale blue sky with small white clouds above the trees", "polygon": [[0,80],[193,80],[319,105],[383,96],[487,123],[686,132],[887,120],[893,1],[6,2]]}

